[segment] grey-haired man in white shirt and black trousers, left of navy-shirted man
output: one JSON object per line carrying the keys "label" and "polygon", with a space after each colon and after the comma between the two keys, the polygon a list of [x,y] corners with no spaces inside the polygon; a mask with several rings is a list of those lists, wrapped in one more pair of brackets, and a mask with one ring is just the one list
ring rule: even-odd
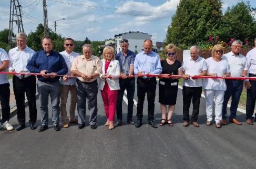
{"label": "grey-haired man in white shirt and black trousers, left of navy-shirted man", "polygon": [[[28,61],[35,54],[33,49],[27,47],[27,35],[18,33],[16,35],[17,47],[9,51],[10,66],[9,71],[29,72],[26,68]],[[19,125],[16,130],[26,127],[25,112],[25,92],[28,100],[30,129],[35,130],[37,110],[36,110],[36,77],[31,75],[13,76],[13,90],[17,106],[17,119]]]}

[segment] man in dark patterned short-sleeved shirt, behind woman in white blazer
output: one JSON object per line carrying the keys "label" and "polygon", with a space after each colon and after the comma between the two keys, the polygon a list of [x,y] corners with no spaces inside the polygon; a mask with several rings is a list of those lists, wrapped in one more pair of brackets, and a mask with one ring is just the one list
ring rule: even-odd
{"label": "man in dark patterned short-sleeved shirt, behind woman in white blazer", "polygon": [[134,59],[135,53],[128,49],[129,42],[127,39],[120,41],[121,51],[116,54],[116,59],[120,65],[120,76],[119,85],[120,90],[118,91],[117,97],[117,125],[122,124],[122,97],[124,97],[125,89],[127,91],[128,108],[127,108],[127,123],[134,124],[132,121],[132,112],[134,109],[134,92],[135,92],[135,78],[129,77],[134,74]]}

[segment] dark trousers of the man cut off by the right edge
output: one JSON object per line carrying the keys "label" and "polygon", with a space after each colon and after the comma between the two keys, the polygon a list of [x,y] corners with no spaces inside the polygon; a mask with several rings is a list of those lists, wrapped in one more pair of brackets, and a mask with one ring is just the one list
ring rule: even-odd
{"label": "dark trousers of the man cut off by the right edge", "polygon": [[[256,75],[249,73],[249,77],[256,77]],[[250,83],[251,88],[247,89],[246,119],[252,119],[256,100],[256,80],[250,80]]]}

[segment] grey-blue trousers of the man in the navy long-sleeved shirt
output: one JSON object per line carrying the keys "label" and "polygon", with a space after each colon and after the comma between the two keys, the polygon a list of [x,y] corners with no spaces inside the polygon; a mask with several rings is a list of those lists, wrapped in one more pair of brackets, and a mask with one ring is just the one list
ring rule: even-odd
{"label": "grey-blue trousers of the man in the navy long-sleeved shirt", "polygon": [[44,83],[37,81],[37,90],[40,101],[40,111],[42,115],[42,125],[48,125],[48,98],[52,103],[52,121],[54,125],[59,123],[59,81]]}

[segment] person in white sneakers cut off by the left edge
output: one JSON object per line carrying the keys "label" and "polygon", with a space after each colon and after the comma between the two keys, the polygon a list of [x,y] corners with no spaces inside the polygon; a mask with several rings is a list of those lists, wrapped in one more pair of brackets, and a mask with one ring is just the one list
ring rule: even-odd
{"label": "person in white sneakers cut off by the left edge", "polygon": [[[9,57],[6,51],[0,48],[0,71],[5,71],[9,67]],[[9,123],[10,118],[10,88],[9,81],[6,75],[0,75],[0,102],[2,107],[3,127],[6,130],[13,130],[13,126]],[[0,128],[2,126],[0,125]]]}

